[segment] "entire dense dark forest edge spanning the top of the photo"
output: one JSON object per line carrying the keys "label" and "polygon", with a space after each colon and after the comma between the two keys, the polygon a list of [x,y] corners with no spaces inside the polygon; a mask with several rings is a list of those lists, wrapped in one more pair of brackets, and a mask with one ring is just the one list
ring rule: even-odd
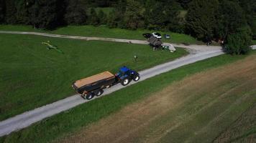
{"label": "entire dense dark forest edge spanning the top of the photo", "polygon": [[[106,14],[98,7],[112,10]],[[182,10],[187,11],[185,17]],[[186,33],[206,41],[223,39],[224,44],[234,43],[238,36],[243,37],[237,41],[248,44],[243,38],[256,33],[255,17],[255,0],[0,0],[0,24],[28,24],[40,29],[105,24]],[[234,53],[243,52],[246,50]]]}

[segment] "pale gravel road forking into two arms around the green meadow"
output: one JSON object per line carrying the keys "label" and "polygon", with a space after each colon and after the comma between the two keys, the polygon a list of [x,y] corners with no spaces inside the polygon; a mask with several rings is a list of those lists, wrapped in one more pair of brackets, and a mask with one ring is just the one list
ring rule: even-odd
{"label": "pale gravel road forking into two arms around the green meadow", "polygon": [[[51,36],[51,37],[58,37],[58,38],[68,38],[68,39],[83,39],[83,40],[101,40],[101,41],[119,41],[119,42],[132,42],[133,44],[148,44],[147,41],[140,41],[140,40],[129,40],[129,39],[108,39],[108,38],[97,38],[97,37],[85,37],[85,36],[65,36],[65,35],[58,35],[58,34],[43,34],[37,32],[22,32],[22,31],[0,31],[0,33],[4,34],[32,34],[32,35],[40,35],[40,36]],[[213,56],[218,56],[220,54],[224,54],[221,51],[220,46],[203,46],[203,45],[190,45],[185,46],[183,44],[177,45],[173,44],[173,46],[183,47],[189,49],[189,51],[193,51],[192,54],[188,56],[183,56],[180,59],[176,59],[174,61],[167,62],[165,64],[160,64],[158,66],[154,66],[150,69],[145,69],[140,71],[142,82],[145,79],[149,79],[151,77],[155,77],[158,74],[163,74],[164,72],[170,71],[172,69],[176,69],[180,66],[184,66],[186,64],[191,64],[196,61],[201,61],[204,59],[211,58]],[[131,82],[132,85],[135,82]],[[105,89],[104,94],[110,94],[115,92],[119,89],[124,88],[121,84],[117,84],[110,89]],[[94,99],[97,99],[96,97]],[[33,109],[28,112],[24,112],[23,114],[19,114],[15,117],[6,119],[0,122],[0,137],[11,132],[17,131],[19,129],[28,127],[29,125],[39,122],[42,119],[47,117],[51,117],[54,114],[58,114],[60,112],[66,111],[73,107],[78,106],[79,104],[83,104],[88,102],[87,100],[82,99],[78,94],[73,95],[71,97],[59,100],[58,102],[53,102],[52,104],[47,104],[43,107],[39,107],[37,109]]]}

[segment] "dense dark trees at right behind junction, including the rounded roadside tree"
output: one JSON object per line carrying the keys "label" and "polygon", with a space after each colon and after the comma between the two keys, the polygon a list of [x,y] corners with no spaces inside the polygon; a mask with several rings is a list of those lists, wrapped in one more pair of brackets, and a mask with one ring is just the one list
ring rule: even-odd
{"label": "dense dark trees at right behind junction, including the rounded roadside tree", "polygon": [[230,54],[249,51],[255,31],[255,0],[193,0],[188,5],[186,33],[198,39],[221,39]]}

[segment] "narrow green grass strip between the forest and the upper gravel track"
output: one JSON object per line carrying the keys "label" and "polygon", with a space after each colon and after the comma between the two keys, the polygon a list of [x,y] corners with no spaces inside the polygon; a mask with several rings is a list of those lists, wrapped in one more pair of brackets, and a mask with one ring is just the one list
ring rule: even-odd
{"label": "narrow green grass strip between the forest and the upper gravel track", "polygon": [[[0,25],[0,30],[9,31],[37,31],[47,32],[52,34],[64,34],[64,35],[76,35],[76,36],[97,36],[104,38],[117,38],[117,39],[140,39],[145,40],[142,36],[144,33],[152,33],[153,31],[138,29],[138,30],[126,30],[126,29],[109,29],[106,26],[65,26],[55,29],[53,31],[43,31],[40,29],[33,29],[32,26],[12,26],[12,25]],[[172,32],[160,31],[161,34],[170,34],[170,39],[163,39],[165,42],[170,43],[186,43],[186,44],[204,44],[201,41],[197,41],[192,36],[186,34],[178,34]]]}

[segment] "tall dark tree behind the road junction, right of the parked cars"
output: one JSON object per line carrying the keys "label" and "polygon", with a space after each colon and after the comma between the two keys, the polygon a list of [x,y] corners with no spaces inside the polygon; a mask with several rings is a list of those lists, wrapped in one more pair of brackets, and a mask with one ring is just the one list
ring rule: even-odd
{"label": "tall dark tree behind the road junction, right of the parked cars", "polygon": [[187,33],[198,39],[213,36],[218,6],[217,0],[193,0],[186,15]]}

